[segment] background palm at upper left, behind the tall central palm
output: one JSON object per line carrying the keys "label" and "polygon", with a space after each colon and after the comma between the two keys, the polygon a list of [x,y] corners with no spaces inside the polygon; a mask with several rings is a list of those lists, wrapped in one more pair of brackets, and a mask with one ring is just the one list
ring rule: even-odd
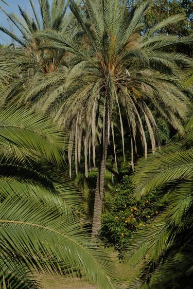
{"label": "background palm at upper left, behind the tall central palm", "polygon": [[[4,46],[0,51],[2,95],[7,96],[9,94],[12,99],[15,95],[19,96],[25,86],[31,83],[38,74],[54,72],[59,68],[60,63],[65,64],[64,51],[44,49],[42,43],[40,47],[40,40],[33,37],[33,33],[44,29],[54,29],[61,31],[63,34],[70,33],[71,37],[75,37],[79,31],[74,15],[66,12],[69,4],[68,0],[53,0],[51,4],[48,0],[40,0],[40,13],[36,11],[33,0],[29,0],[29,4],[33,11],[32,16],[20,6],[20,15],[8,13],[1,8],[13,27],[20,32],[14,33],[12,29],[0,26],[0,29],[17,43],[17,45]],[[39,17],[39,14],[41,17]],[[19,61],[17,62],[17,60]],[[27,69],[25,73],[24,68]],[[9,78],[7,78],[8,73]],[[7,88],[8,91],[5,93]]]}

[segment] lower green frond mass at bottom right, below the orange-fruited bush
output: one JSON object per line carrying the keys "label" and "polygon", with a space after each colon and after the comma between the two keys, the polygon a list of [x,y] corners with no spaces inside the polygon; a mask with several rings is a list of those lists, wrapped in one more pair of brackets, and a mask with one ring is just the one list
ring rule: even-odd
{"label": "lower green frond mass at bottom right, below the orange-fruited bush", "polygon": [[[187,242],[191,243],[192,240],[191,191],[192,180],[182,182],[176,189],[170,190],[166,195],[169,203],[166,211],[131,240],[125,258],[130,265],[137,266],[129,288],[143,288],[145,284],[147,288],[162,288],[165,282],[168,282],[166,288],[171,288],[173,283],[188,278],[191,264],[187,262],[186,267],[186,262],[181,263],[180,268],[176,257],[185,250],[187,255],[184,258],[188,258]],[[173,262],[172,266],[170,262]],[[192,276],[189,275],[189,278]]]}

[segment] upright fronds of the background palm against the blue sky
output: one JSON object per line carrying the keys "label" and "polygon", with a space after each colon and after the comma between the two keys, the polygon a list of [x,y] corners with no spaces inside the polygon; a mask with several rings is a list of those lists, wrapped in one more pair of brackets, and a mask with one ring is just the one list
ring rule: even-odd
{"label": "upright fronds of the background palm against the blue sky", "polygon": [[23,10],[20,5],[20,16],[15,13],[8,13],[3,8],[3,13],[8,17],[8,20],[12,22],[13,27],[19,30],[21,37],[18,33],[14,33],[11,29],[7,29],[4,26],[0,26],[0,30],[8,34],[14,41],[23,47],[31,47],[37,49],[39,40],[33,38],[34,31],[41,31],[44,29],[54,29],[59,31],[69,31],[71,26],[74,25],[74,19],[72,15],[66,15],[69,1],[65,0],[52,0],[51,6],[48,0],[39,0],[39,11],[37,12],[33,0],[29,0],[29,5],[33,11],[32,17],[27,11]]}

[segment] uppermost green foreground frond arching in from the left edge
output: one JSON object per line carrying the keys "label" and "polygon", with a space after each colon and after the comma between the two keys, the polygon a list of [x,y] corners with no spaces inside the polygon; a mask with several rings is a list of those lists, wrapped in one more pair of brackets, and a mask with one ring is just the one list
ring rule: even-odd
{"label": "uppermost green foreground frond arching in from the left edge", "polygon": [[0,112],[1,145],[15,146],[61,164],[64,135],[46,120],[46,116],[15,109]]}

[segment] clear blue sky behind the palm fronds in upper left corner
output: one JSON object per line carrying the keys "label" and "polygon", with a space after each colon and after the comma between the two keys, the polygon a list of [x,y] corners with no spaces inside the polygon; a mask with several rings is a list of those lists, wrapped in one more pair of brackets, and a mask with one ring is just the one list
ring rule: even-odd
{"label": "clear blue sky behind the palm fronds in upper left corner", "polygon": [[[6,0],[9,7],[1,3],[1,7],[4,8],[8,13],[14,12],[19,14],[19,9],[17,5],[20,5],[23,9],[26,9],[29,14],[32,14],[29,0]],[[38,7],[38,0],[33,0],[33,3]],[[0,25],[6,28],[10,27],[9,21],[7,21],[7,16],[0,10]],[[0,31],[0,43],[8,44],[10,43],[9,37],[5,33]]]}

